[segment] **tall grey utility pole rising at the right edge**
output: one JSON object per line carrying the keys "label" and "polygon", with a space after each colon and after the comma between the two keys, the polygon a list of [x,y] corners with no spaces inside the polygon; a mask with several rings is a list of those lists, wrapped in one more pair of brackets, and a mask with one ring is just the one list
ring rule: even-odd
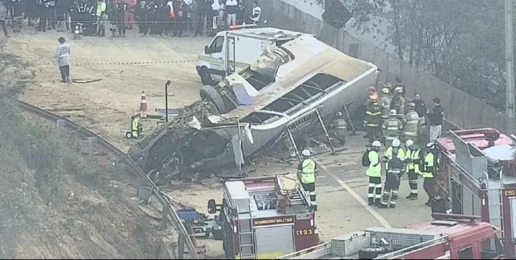
{"label": "tall grey utility pole rising at the right edge", "polygon": [[505,0],[505,74],[507,131],[515,133],[513,70],[513,0]]}

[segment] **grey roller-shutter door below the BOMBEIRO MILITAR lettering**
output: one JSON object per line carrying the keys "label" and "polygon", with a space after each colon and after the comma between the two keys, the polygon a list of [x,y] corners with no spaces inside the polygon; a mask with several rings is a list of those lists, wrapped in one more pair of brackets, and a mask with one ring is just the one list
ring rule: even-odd
{"label": "grey roller-shutter door below the BOMBEIRO MILITAR lettering", "polygon": [[255,228],[256,259],[275,259],[294,252],[294,226]]}

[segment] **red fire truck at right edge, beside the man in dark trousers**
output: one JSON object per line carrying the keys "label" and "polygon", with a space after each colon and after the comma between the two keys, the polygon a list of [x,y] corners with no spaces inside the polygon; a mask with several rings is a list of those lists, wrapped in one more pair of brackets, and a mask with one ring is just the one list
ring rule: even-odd
{"label": "red fire truck at right edge, beside the man in dark trousers", "polygon": [[511,258],[516,246],[514,142],[513,135],[492,128],[450,131],[437,140],[438,194],[447,198],[452,214],[478,215],[501,227]]}

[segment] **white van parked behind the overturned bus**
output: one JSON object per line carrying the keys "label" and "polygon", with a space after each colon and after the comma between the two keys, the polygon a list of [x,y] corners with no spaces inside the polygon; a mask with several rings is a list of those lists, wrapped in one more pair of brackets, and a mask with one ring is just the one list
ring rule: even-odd
{"label": "white van parked behind the overturned bus", "polygon": [[303,35],[277,28],[252,28],[219,32],[197,58],[202,84],[215,85],[225,76],[257,61],[267,45],[282,45]]}

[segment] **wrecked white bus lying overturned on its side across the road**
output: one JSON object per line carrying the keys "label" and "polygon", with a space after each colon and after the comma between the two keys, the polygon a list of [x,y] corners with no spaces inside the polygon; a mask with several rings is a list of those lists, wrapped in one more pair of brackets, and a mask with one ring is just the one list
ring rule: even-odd
{"label": "wrecked white bus lying overturned on its side across the road", "polygon": [[314,36],[269,45],[257,62],[202,87],[202,100],[179,109],[129,154],[144,171],[175,175],[239,168],[281,140],[297,152],[297,138],[344,105],[356,109],[377,77],[376,65]]}

